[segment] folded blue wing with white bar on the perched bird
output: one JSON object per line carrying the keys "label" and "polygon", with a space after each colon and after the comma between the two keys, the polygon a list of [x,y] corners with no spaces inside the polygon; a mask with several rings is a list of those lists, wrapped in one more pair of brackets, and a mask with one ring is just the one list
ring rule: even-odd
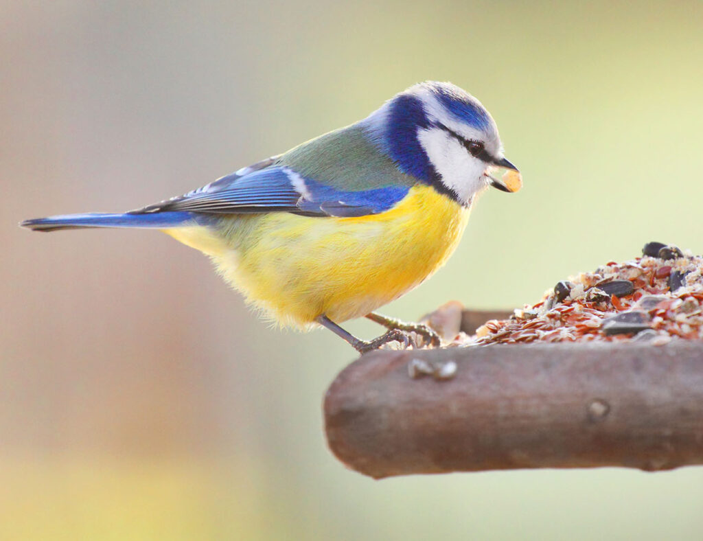
{"label": "folded blue wing with white bar on the perched bird", "polygon": [[[262,167],[257,167],[259,164]],[[407,185],[372,190],[340,190],[274,158],[240,169],[186,195],[132,211],[146,214],[189,211],[203,214],[246,214],[288,211],[311,216],[366,216],[387,211],[403,199]]]}

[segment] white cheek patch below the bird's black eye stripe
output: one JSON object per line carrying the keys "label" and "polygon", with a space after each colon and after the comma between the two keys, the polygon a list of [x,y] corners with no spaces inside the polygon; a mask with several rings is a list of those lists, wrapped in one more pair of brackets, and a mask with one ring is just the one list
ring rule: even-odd
{"label": "white cheek patch below the bird's black eye stripe", "polygon": [[441,182],[458,195],[460,202],[469,204],[486,187],[486,164],[470,155],[449,133],[437,128],[418,129],[418,141]]}

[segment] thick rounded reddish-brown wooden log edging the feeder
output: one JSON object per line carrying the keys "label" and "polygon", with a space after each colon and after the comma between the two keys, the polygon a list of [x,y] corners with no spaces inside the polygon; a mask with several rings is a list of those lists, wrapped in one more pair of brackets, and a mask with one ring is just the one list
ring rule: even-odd
{"label": "thick rounded reddish-brown wooden log edging the feeder", "polygon": [[337,458],[374,478],[703,464],[703,341],[375,351],[324,415]]}

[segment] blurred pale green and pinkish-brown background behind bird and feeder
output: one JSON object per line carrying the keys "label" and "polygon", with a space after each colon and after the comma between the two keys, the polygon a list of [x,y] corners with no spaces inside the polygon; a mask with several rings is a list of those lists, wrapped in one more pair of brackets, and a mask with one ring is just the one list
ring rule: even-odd
{"label": "blurred pale green and pinkish-brown background behind bird and feeder", "polygon": [[650,240],[701,253],[703,4],[0,9],[1,539],[702,537],[700,468],[363,478],[322,431],[340,339],[272,330],[158,233],[15,224],[183,193],[439,79],[491,111],[524,189],[486,193],[386,313],[521,306]]}

